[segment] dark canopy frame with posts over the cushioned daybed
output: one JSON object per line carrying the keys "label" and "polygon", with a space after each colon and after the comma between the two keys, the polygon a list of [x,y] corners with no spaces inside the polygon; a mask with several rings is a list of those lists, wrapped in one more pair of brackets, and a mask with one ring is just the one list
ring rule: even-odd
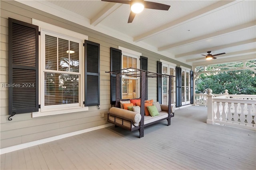
{"label": "dark canopy frame with posts over the cushioned daybed", "polygon": [[[116,106],[120,106],[120,77],[140,77],[140,114],[141,114],[141,120],[140,120],[140,126],[136,128],[130,129],[131,131],[139,129],[140,131],[140,137],[144,136],[144,103],[145,103],[145,85],[146,85],[146,78],[163,78],[167,77],[169,78],[169,89],[172,89],[172,75],[168,74],[160,74],[160,73],[154,73],[138,68],[124,68],[121,70],[114,70],[114,71],[106,71],[107,73],[110,74],[115,74],[116,75]],[[174,115],[171,115],[171,90],[168,92],[169,94],[169,100],[168,100],[168,125],[170,125],[171,117]],[[151,123],[150,123],[151,124]],[[147,124],[148,125],[148,124]],[[146,125],[145,125],[146,126]]]}

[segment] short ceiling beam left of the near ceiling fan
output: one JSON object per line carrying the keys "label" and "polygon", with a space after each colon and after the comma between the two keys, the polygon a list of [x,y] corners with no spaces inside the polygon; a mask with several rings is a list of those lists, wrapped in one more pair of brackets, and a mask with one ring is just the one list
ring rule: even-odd
{"label": "short ceiling beam left of the near ceiling fan", "polygon": [[104,20],[107,16],[109,16],[112,12],[114,12],[117,8],[119,8],[122,4],[119,3],[108,3],[103,10],[101,10],[98,14],[96,14],[91,19],[91,25],[96,26],[102,20]]}

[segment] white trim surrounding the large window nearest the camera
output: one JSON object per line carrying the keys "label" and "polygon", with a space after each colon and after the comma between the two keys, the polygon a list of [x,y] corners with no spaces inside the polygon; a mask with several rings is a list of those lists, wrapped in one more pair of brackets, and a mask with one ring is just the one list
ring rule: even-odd
{"label": "white trim surrounding the large window nearest the camera", "polygon": [[[37,112],[32,112],[32,117],[41,117],[41,116],[48,116],[48,115],[58,115],[58,114],[64,114],[64,113],[74,113],[78,111],[88,111],[88,107],[84,106],[83,101],[85,99],[84,96],[84,47],[83,42],[84,40],[88,40],[87,35],[83,35],[74,31],[70,31],[68,29],[64,29],[62,27],[58,27],[49,23],[45,23],[39,20],[32,19],[32,23],[34,25],[38,25],[39,31],[47,31],[56,35],[63,35],[64,37],[70,37],[71,39],[77,39],[81,41],[80,44],[80,83],[79,83],[79,93],[81,94],[79,98],[79,106],[77,104],[67,104],[69,105],[68,108],[58,107],[58,106],[52,106],[52,108],[39,108]],[[44,72],[44,63],[45,59],[42,59],[43,57],[43,51],[44,49],[41,49],[41,41],[43,41],[42,36],[39,36],[39,105],[41,105],[43,102],[41,101],[43,99],[42,95],[43,93],[43,87],[44,87],[44,76],[42,75]],[[76,74],[76,73],[75,73]],[[75,105],[75,106],[74,106]],[[58,107],[58,108],[55,108]]]}

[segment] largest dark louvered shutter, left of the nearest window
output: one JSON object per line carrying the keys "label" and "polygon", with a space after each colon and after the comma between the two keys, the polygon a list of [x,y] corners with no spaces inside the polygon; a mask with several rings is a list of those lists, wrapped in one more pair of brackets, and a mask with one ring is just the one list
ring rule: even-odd
{"label": "largest dark louvered shutter, left of the nearest window", "polygon": [[9,115],[38,111],[38,26],[8,18]]}

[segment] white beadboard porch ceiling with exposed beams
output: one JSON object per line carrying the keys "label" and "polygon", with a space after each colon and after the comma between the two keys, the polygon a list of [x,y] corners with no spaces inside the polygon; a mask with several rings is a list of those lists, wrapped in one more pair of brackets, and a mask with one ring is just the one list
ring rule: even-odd
{"label": "white beadboard porch ceiling with exposed beams", "polygon": [[[197,66],[256,59],[255,0],[150,0],[168,11],[144,9],[132,23],[128,4],[100,0],[23,1],[23,4]],[[217,59],[204,59],[212,51]]]}

